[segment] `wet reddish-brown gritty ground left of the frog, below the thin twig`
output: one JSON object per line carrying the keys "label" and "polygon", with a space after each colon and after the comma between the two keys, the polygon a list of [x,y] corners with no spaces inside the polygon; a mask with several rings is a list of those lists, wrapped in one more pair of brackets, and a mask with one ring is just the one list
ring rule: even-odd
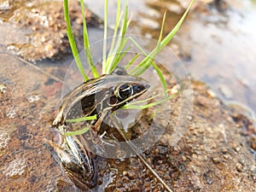
{"label": "wet reddish-brown gritty ground left of the frog, below the thin twig", "polygon": [[46,84],[49,77],[14,56],[2,54],[1,59],[0,190],[53,190],[61,169],[50,160],[42,139],[51,135],[49,114],[58,104],[61,84]]}

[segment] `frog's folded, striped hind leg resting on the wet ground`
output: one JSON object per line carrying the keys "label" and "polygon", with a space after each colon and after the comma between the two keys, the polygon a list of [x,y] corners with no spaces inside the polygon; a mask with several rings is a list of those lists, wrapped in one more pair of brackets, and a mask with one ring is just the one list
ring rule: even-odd
{"label": "frog's folded, striped hind leg resting on the wet ground", "polygon": [[[79,162],[74,156],[74,154],[84,155],[79,151],[79,148],[77,148],[76,151],[69,151],[70,149],[61,148],[61,146],[47,139],[44,139],[44,144],[49,149],[50,154],[53,155],[55,160],[60,163],[65,172],[67,172],[70,180],[79,189],[88,190],[96,186],[96,166],[90,159],[90,156],[81,157],[82,161]],[[83,159],[86,159],[87,161]]]}

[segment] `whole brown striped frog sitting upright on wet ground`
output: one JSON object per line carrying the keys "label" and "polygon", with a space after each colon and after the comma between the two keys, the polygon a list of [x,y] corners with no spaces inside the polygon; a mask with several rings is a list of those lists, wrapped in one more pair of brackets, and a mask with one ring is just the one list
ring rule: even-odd
{"label": "whole brown striped frog sitting upright on wet ground", "polygon": [[74,131],[67,119],[96,115],[96,119],[82,124],[89,126],[92,137],[96,137],[103,119],[109,113],[141,96],[148,88],[148,82],[128,75],[124,68],[117,67],[111,74],[80,84],[64,97],[53,122],[53,126],[61,132],[63,143],[61,146],[48,140],[45,143],[79,189],[96,186],[96,158],[92,158],[84,137],[65,136],[65,132]]}

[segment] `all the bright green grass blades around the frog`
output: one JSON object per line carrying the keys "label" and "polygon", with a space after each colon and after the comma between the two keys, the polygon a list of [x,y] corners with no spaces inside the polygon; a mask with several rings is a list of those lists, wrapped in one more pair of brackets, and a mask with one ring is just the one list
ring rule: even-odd
{"label": "all the bright green grass blades around the frog", "polygon": [[[172,40],[174,35],[177,33],[178,29],[183,24],[183,20],[185,19],[186,15],[188,15],[189,9],[191,8],[191,6],[193,5],[194,2],[195,2],[195,0],[191,0],[191,2],[189,3],[188,9],[186,9],[182,18],[177,22],[177,25],[174,26],[172,31],[166,35],[166,38],[162,39],[164,23],[166,20],[166,13],[165,13],[165,15],[163,16],[163,20],[162,20],[158,44],[149,54],[147,54],[143,50],[143,48],[140,47],[140,45],[137,44],[137,42],[133,38],[125,36],[127,27],[129,26],[129,23],[131,21],[131,20],[128,20],[128,8],[129,8],[128,0],[125,0],[125,10],[123,12],[121,12],[121,0],[118,0],[117,11],[116,11],[116,20],[115,20],[115,26],[114,26],[114,31],[113,31],[113,39],[112,39],[111,46],[110,46],[110,49],[108,50],[108,55],[107,55],[108,0],[105,0],[104,35],[103,35],[103,47],[102,47],[102,73],[109,74],[113,71],[113,69],[115,67],[118,66],[119,61],[125,56],[125,54],[129,51],[129,49],[131,49],[131,46],[128,46],[128,48],[126,48],[126,46],[125,46],[128,43],[128,41],[130,40],[132,42],[132,44],[134,44],[135,46],[137,46],[138,49],[141,50],[141,52],[144,55],[144,59],[143,59],[143,61],[140,61],[140,63],[136,67],[134,67],[129,73],[131,75],[140,76],[148,69],[148,67],[150,67],[150,66],[154,67],[154,70],[158,74],[158,76],[160,78],[160,82],[163,86],[164,92],[166,94],[165,98],[160,100],[159,102],[151,102],[148,104],[139,105],[140,103],[148,102],[149,99],[146,99],[146,100],[143,100],[140,102],[128,103],[123,108],[126,108],[126,109],[151,108],[151,107],[154,107],[156,105],[159,105],[163,102],[166,102],[166,101],[172,99],[174,96],[177,96],[177,95],[168,96],[168,94],[167,94],[168,90],[166,90],[166,79],[164,78],[162,72],[160,71],[160,68],[155,64],[154,59],[155,59],[155,56],[158,55],[160,53],[160,51],[166,47],[166,44],[168,44]],[[84,17],[84,0],[80,0],[80,5],[81,5],[81,12],[83,15],[85,55],[86,55],[86,59],[88,61],[90,70],[93,73],[93,76],[95,78],[97,78],[97,77],[99,77],[99,74],[96,71],[96,67],[95,67],[94,61],[92,59],[92,53],[90,51],[90,41],[89,41],[88,32],[87,32],[86,20]],[[65,20],[67,22],[67,37],[69,39],[69,43],[70,43],[70,46],[71,46],[71,49],[73,52],[73,57],[74,57],[74,60],[76,61],[77,67],[79,68],[79,72],[81,73],[81,75],[84,78],[84,81],[86,82],[89,80],[89,78],[87,77],[87,75],[84,72],[84,67],[83,67],[82,61],[79,58],[79,51],[76,47],[75,40],[73,38],[73,31],[72,31],[71,22],[70,22],[69,15],[68,15],[68,0],[63,1],[63,7],[64,7]],[[131,58],[131,61],[128,61],[128,64],[125,66],[125,68],[128,69],[129,67],[131,67],[131,65],[134,63],[134,61],[137,60],[138,56],[139,56],[139,54],[137,54],[133,58]],[[180,90],[182,90],[182,89],[180,89]],[[150,99],[152,99],[152,98],[153,97],[150,97]],[[79,118],[79,119],[67,119],[67,122],[71,122],[71,123],[72,122],[80,122],[80,121],[85,121],[88,119],[96,119],[96,117],[89,116],[89,117],[84,117],[84,118]],[[84,129],[87,130],[87,128],[84,128]],[[76,133],[74,133],[74,134],[76,134]]]}

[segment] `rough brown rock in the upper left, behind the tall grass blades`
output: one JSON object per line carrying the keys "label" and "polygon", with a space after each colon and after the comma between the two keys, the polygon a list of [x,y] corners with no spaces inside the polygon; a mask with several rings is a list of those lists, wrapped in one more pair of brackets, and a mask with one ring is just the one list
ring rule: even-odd
{"label": "rough brown rock in the upper left, behind the tall grass blades", "polygon": [[[69,1],[70,20],[77,41],[82,40],[83,18],[78,1]],[[99,26],[101,20],[89,9],[84,15],[90,26]],[[26,60],[60,59],[70,54],[66,22],[61,1],[1,1],[0,38],[9,51]]]}

